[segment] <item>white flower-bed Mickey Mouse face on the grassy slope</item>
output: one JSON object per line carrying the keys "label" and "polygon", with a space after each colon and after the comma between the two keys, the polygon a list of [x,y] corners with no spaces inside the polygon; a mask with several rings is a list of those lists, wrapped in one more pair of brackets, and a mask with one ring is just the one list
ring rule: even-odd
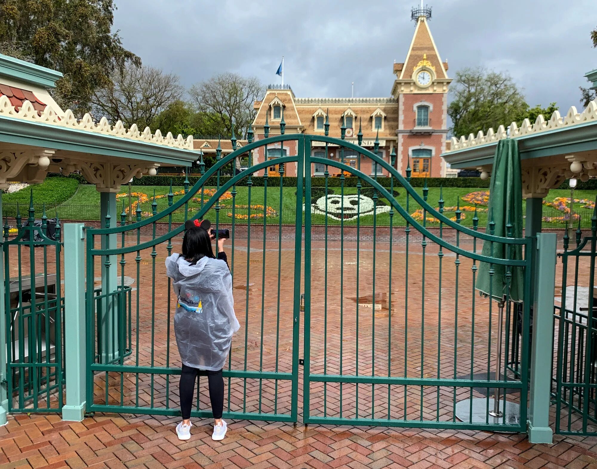
{"label": "white flower-bed Mickey Mouse face on the grassy slope", "polygon": [[[326,207],[327,206],[327,207]],[[303,203],[303,212],[305,206]],[[328,195],[311,204],[311,212],[326,215],[333,220],[356,220],[367,215],[381,214],[390,211],[390,206],[375,205],[373,199],[364,195]]]}

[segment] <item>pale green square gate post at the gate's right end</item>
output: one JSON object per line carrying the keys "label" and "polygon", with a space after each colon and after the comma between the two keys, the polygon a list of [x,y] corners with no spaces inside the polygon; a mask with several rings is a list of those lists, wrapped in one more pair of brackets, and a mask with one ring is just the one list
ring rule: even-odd
{"label": "pale green square gate post at the gate's right end", "polygon": [[553,359],[553,297],[556,282],[556,235],[537,235],[536,272],[533,302],[533,343],[531,350],[531,393],[528,440],[552,443],[549,406]]}

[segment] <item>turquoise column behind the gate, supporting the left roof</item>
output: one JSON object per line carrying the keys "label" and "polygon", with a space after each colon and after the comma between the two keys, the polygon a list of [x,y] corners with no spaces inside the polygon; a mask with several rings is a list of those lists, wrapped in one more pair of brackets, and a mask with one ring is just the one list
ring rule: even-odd
{"label": "turquoise column behind the gate, supporting the left roof", "polygon": [[[109,220],[107,216],[110,216]],[[101,227],[115,227],[118,222],[116,212],[116,193],[100,192]],[[116,235],[101,236],[101,249],[116,248]],[[118,264],[116,256],[101,258],[101,294],[108,295],[118,288]],[[100,328],[101,327],[101,331]],[[97,331],[102,338],[101,362],[109,363],[118,359],[118,296],[110,295],[101,300],[101,320]]]}

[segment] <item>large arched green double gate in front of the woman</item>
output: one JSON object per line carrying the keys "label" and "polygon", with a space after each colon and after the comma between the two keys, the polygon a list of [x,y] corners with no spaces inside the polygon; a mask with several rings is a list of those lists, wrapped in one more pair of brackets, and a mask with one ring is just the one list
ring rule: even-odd
{"label": "large arched green double gate in front of the woman", "polygon": [[[87,340],[96,344],[87,357],[88,411],[179,414],[176,298],[164,259],[180,249],[184,221],[205,217],[230,229],[224,250],[241,323],[224,369],[224,416],[297,422],[302,409],[306,424],[525,431],[528,341],[518,363],[503,360],[492,378],[502,329],[475,278],[481,262],[523,269],[528,297],[530,240],[479,232],[489,214],[446,205],[441,190],[417,192],[410,169],[407,178],[394,169],[395,152],[384,155],[378,140],[365,149],[360,131],[354,142],[344,130],[331,138],[328,128],[287,135],[282,122],[281,135],[269,137],[266,125],[263,138],[250,132],[242,149],[233,138],[234,151],[222,157],[219,149],[216,164],[202,168],[193,187],[187,180],[176,202],[170,188],[167,208],[158,213],[154,195],[145,220],[139,203],[127,226],[123,205],[121,226],[110,226],[108,215],[104,229],[87,230]],[[271,161],[273,148],[288,156]],[[249,168],[224,180],[247,153]],[[524,260],[485,257],[483,242],[522,245]],[[127,288],[130,301],[110,300]],[[528,337],[528,304],[516,327]],[[504,356],[514,328],[507,316]],[[194,416],[211,415],[205,381]],[[458,420],[458,402],[482,398],[489,409],[493,388],[504,403],[519,403],[514,421]]]}

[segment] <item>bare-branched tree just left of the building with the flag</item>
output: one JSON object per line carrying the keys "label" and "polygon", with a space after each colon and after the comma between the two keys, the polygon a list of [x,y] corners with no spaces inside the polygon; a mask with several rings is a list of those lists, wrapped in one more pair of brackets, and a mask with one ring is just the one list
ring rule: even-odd
{"label": "bare-branched tree just left of the building with the flag", "polygon": [[189,94],[199,112],[214,124],[223,125],[230,135],[232,122],[237,135],[244,135],[255,118],[253,103],[265,91],[256,77],[221,73],[190,88]]}

